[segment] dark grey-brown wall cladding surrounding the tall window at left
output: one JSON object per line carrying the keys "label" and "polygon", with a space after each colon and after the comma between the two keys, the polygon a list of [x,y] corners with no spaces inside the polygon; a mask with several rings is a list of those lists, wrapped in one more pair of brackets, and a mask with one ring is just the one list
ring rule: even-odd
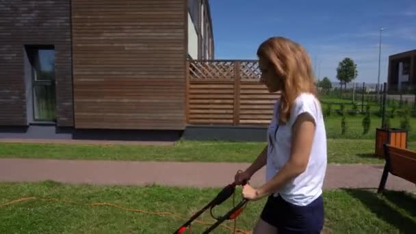
{"label": "dark grey-brown wall cladding surrounding the tall window at left", "polygon": [[0,1],[0,125],[27,125],[25,44],[55,46],[58,126],[73,126],[70,0]]}

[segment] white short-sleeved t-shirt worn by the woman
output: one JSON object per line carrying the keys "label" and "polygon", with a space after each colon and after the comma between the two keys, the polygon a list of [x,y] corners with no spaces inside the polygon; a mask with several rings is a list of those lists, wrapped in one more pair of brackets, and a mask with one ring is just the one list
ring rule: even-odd
{"label": "white short-sleeved t-shirt worn by the woman", "polygon": [[276,172],[289,160],[291,152],[292,126],[296,118],[309,113],[315,120],[315,135],[307,169],[292,179],[274,196],[294,205],[309,205],[322,194],[322,185],[326,173],[326,130],[319,101],[313,94],[300,94],[291,107],[290,118],[285,125],[278,125],[279,100],[274,105],[274,115],[268,127],[268,158],[266,164],[266,181],[274,177]]}

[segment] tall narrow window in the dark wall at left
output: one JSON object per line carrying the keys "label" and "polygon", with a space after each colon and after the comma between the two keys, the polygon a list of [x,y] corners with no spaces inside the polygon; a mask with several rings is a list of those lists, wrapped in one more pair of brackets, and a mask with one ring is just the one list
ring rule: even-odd
{"label": "tall narrow window in the dark wall at left", "polygon": [[35,121],[55,121],[55,49],[26,47],[31,66],[31,91]]}

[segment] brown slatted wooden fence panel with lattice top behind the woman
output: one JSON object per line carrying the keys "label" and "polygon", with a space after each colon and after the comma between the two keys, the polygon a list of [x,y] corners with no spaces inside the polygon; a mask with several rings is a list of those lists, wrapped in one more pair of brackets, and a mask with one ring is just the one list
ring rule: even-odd
{"label": "brown slatted wooden fence panel with lattice top behind the woman", "polygon": [[189,125],[268,125],[278,94],[259,83],[257,61],[188,62]]}

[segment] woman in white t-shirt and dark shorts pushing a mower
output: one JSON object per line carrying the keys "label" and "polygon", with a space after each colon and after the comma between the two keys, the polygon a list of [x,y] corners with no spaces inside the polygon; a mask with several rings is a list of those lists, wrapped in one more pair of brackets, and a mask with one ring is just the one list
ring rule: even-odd
{"label": "woman in white t-shirt and dark shorts pushing a mower", "polygon": [[317,100],[311,61],[287,38],[270,38],[258,51],[261,82],[280,91],[268,127],[268,146],[235,182],[266,165],[261,187],[244,185],[248,200],[268,196],[254,233],[320,233],[324,224],[322,184],[326,172],[326,131]]}

